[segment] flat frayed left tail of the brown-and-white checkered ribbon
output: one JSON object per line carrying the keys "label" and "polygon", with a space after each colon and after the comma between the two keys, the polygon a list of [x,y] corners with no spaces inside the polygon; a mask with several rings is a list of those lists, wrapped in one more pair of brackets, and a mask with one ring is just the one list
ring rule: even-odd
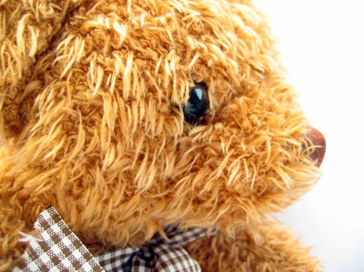
{"label": "flat frayed left tail of the brown-and-white checkered ribbon", "polygon": [[40,232],[40,237],[31,239],[13,272],[103,272],[53,207],[39,215],[34,228]]}

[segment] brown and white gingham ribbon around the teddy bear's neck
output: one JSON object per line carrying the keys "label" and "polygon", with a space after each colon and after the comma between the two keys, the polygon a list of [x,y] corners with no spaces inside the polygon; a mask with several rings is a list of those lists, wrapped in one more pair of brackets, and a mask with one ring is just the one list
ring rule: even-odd
{"label": "brown and white gingham ribbon around the teddy bear's neck", "polygon": [[182,246],[207,236],[207,228],[170,226],[165,229],[168,240],[156,234],[141,247],[92,256],[53,207],[39,215],[34,228],[39,238],[27,236],[29,245],[13,272],[198,272],[199,264]]}

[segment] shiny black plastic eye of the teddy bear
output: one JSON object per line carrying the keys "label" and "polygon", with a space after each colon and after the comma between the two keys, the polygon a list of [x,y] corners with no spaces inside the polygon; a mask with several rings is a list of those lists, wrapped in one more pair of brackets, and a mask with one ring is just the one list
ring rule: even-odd
{"label": "shiny black plastic eye of the teddy bear", "polygon": [[185,120],[190,123],[196,122],[209,107],[207,86],[203,82],[195,82],[190,90],[190,99],[183,106]]}

